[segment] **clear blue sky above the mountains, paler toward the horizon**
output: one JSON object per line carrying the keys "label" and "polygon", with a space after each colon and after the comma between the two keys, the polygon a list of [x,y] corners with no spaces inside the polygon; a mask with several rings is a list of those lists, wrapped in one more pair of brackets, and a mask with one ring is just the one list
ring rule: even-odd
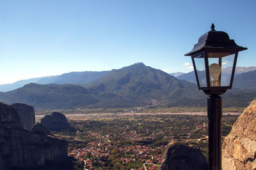
{"label": "clear blue sky above the mountains, paler toward the horizon", "polygon": [[189,52],[210,30],[248,47],[237,66],[256,66],[256,1],[0,1],[0,84],[136,62],[189,72]]}

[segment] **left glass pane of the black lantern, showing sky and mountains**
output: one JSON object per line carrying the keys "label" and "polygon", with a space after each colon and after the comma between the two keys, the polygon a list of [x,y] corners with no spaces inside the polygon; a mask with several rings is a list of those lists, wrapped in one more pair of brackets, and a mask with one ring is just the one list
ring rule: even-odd
{"label": "left glass pane of the black lantern, showing sky and mountains", "polygon": [[204,54],[200,54],[194,57],[194,61],[195,61],[196,73],[199,81],[199,87],[207,87]]}

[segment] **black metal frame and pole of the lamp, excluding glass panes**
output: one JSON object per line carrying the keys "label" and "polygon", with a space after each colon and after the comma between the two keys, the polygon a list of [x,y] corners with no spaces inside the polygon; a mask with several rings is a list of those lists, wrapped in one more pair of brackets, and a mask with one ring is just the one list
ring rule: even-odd
{"label": "black metal frame and pole of the lamp, excluding glass panes", "polygon": [[[198,39],[198,43],[194,45],[193,50],[185,54],[186,56],[191,56],[193,67],[195,70],[198,89],[203,90],[205,94],[209,95],[209,97],[207,98],[207,117],[209,121],[209,125],[208,125],[209,170],[221,169],[222,100],[220,95],[224,94],[227,89],[232,88],[234,73],[236,69],[237,55],[238,55],[238,52],[242,50],[247,50],[247,48],[236,45],[233,39],[229,39],[229,36],[226,32],[215,31],[214,24],[212,24],[211,31],[203,34]],[[209,52],[235,54],[229,86],[221,86],[221,85],[218,87],[211,86],[210,73],[209,73],[209,61],[208,61]],[[196,71],[195,57],[200,54],[204,55],[205,77],[207,82],[206,87],[200,87],[200,82],[199,82],[198,74]],[[221,63],[221,57],[219,57],[219,64],[220,63]]]}

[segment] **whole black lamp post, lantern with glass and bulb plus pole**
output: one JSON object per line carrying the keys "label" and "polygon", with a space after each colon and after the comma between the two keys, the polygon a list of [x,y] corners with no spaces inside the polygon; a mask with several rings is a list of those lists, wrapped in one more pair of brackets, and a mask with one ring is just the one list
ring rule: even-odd
{"label": "whole black lamp post, lantern with glass and bulb plus pole", "polygon": [[[247,50],[229,39],[226,32],[211,31],[203,34],[191,52],[198,89],[209,95],[207,117],[209,120],[209,170],[221,169],[221,117],[220,95],[232,88],[238,52]],[[225,74],[223,69],[225,69]]]}

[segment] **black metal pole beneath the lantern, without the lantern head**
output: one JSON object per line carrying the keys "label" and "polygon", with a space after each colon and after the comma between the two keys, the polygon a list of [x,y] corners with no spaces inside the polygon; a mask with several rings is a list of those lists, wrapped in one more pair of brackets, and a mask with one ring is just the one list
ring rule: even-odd
{"label": "black metal pole beneath the lantern, without the lantern head", "polygon": [[221,170],[222,101],[220,96],[208,97],[207,116],[209,120],[209,170]]}

